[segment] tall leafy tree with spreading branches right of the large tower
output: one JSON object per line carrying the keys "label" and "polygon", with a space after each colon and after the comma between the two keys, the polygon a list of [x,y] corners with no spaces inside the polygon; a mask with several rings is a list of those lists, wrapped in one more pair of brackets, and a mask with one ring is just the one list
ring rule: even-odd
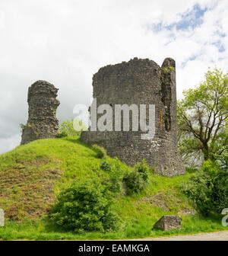
{"label": "tall leafy tree with spreading branches right of the large tower", "polygon": [[205,81],[178,102],[179,151],[185,162],[214,161],[227,150],[228,73],[210,69]]}

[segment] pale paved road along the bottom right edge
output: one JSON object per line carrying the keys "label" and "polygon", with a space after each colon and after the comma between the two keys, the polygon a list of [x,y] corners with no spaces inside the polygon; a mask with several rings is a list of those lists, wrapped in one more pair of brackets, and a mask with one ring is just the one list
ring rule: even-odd
{"label": "pale paved road along the bottom right edge", "polygon": [[[133,240],[133,239],[132,239]],[[228,241],[228,231],[200,233],[195,235],[175,235],[160,238],[141,238],[134,241]]]}

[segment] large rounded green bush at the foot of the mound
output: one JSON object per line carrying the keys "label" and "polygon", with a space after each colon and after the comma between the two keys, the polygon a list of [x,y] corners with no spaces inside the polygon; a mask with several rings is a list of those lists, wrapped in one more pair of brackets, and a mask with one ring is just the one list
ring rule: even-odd
{"label": "large rounded green bush at the foot of the mound", "polygon": [[112,198],[99,181],[74,183],[59,194],[50,220],[62,229],[74,232],[114,230],[118,218],[111,206]]}

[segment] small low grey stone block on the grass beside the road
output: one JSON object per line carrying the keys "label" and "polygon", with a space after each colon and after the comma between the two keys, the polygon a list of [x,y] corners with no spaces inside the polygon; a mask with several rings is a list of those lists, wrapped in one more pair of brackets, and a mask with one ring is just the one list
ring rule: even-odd
{"label": "small low grey stone block on the grass beside the road", "polygon": [[179,215],[164,215],[155,224],[154,227],[162,230],[181,229],[182,218]]}

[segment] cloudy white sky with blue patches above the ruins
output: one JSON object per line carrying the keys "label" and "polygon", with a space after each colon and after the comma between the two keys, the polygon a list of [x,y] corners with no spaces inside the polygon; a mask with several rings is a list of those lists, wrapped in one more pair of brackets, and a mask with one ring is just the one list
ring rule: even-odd
{"label": "cloudy white sky with blue patches above the ruins", "polygon": [[21,142],[36,80],[59,88],[61,123],[76,104],[90,105],[102,66],[172,57],[181,99],[208,67],[227,71],[227,45],[227,0],[1,0],[0,154]]}

